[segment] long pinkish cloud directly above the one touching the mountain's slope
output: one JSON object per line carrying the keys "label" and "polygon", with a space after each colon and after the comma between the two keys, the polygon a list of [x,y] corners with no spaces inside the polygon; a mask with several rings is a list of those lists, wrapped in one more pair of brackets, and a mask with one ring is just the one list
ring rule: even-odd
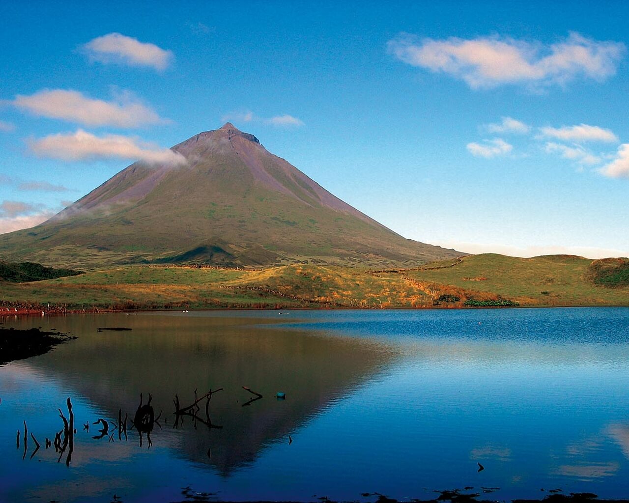
{"label": "long pinkish cloud directly above the one touching the mountain's slope", "polygon": [[43,89],[31,96],[18,94],[11,103],[38,116],[86,126],[137,128],[144,124],[167,122],[128,92],[119,93],[115,101],[103,101],[88,98],[79,91]]}

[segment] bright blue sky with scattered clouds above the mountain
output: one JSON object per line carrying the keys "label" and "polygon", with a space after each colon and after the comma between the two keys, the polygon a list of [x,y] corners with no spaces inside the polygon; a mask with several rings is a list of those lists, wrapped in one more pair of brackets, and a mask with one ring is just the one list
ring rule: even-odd
{"label": "bright blue sky with scattered clouds above the mountain", "polygon": [[0,232],[231,121],[407,238],[629,255],[623,2],[4,2]]}

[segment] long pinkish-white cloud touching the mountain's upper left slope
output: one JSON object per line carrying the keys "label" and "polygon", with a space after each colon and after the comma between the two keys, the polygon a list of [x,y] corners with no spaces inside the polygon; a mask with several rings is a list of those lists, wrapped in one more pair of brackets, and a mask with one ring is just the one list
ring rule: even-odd
{"label": "long pinkish-white cloud touching the mountain's upper left slope", "polygon": [[98,137],[83,130],[32,140],[30,141],[30,148],[40,157],[66,161],[122,158],[170,166],[186,163],[184,156],[168,148],[159,148],[127,136],[105,135]]}

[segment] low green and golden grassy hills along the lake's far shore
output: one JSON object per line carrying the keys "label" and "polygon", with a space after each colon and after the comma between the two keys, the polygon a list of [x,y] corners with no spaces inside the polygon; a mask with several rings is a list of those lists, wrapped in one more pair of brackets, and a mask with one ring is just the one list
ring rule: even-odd
{"label": "low green and golden grassy hills along the lake's far shore", "polygon": [[[629,260],[614,260],[623,274]],[[73,309],[629,306],[629,285],[610,287],[599,282],[599,277],[608,277],[610,267],[605,261],[568,255],[494,254],[412,270],[310,264],[260,269],[134,265],[6,284],[0,301],[51,302]]]}

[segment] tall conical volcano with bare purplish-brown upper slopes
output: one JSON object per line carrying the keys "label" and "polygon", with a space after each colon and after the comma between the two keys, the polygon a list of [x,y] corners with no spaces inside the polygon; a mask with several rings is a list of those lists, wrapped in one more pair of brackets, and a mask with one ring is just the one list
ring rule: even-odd
{"label": "tall conical volcano with bare purplish-brown upper slopes", "polygon": [[460,255],[387,229],[233,124],[171,150],[186,163],[131,164],[45,223],[0,236],[0,258],[413,267]]}

